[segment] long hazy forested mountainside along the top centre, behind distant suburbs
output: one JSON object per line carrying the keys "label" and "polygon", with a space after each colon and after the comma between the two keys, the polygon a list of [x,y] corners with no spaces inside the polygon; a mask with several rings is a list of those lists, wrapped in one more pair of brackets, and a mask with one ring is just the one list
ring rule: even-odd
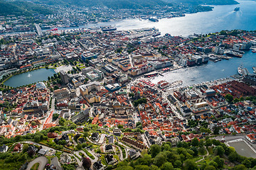
{"label": "long hazy forested mountainside along the top centre, behind distant suburbs", "polygon": [[48,5],[75,5],[75,6],[107,6],[108,8],[153,8],[154,6],[171,6],[161,0],[33,0],[36,3]]}

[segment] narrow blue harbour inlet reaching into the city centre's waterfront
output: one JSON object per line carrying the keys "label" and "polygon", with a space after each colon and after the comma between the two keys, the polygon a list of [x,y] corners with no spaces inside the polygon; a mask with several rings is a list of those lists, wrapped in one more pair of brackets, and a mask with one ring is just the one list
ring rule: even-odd
{"label": "narrow blue harbour inlet reaching into the city centre's waterfront", "polygon": [[252,67],[256,67],[256,53],[248,51],[245,52],[242,58],[234,57],[230,60],[222,60],[220,62],[208,62],[208,64],[203,64],[199,67],[178,69],[174,72],[164,73],[164,77],[155,77],[151,81],[157,83],[164,78],[169,82],[182,80],[184,86],[199,84],[204,81],[222,79],[238,74],[240,64],[247,68],[250,73],[253,73]]}

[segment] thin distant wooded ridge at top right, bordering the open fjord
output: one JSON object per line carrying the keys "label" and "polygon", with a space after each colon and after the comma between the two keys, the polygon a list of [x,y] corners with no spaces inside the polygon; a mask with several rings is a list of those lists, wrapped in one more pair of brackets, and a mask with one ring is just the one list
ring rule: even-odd
{"label": "thin distant wooded ridge at top right, bordering the open fjord", "polygon": [[233,5],[239,4],[235,0],[164,0],[171,3],[183,3],[191,5]]}

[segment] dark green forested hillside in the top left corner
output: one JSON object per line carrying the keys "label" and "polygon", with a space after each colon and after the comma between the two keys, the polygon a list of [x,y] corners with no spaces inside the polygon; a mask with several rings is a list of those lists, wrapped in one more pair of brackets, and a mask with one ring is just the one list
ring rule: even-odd
{"label": "dark green forested hillside in the top left corner", "polygon": [[33,4],[27,1],[3,1],[0,0],[0,16],[5,15],[25,15],[29,16],[33,13],[49,14],[52,13],[49,8]]}

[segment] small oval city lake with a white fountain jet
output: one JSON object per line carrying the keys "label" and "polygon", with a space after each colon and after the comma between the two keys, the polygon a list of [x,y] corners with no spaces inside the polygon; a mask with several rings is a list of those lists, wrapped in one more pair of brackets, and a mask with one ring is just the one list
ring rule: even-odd
{"label": "small oval city lake with a white fountain jet", "polygon": [[18,87],[27,84],[33,84],[38,81],[47,80],[47,78],[52,77],[53,74],[55,74],[54,69],[37,69],[32,72],[15,75],[14,77],[11,77],[6,82],[4,82],[4,85]]}

